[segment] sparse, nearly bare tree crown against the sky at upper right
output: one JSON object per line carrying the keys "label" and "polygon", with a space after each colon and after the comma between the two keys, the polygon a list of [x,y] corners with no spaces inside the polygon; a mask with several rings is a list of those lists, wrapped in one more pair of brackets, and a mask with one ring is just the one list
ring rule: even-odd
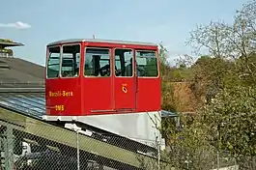
{"label": "sparse, nearly bare tree crown against the sky at upper right", "polygon": [[234,77],[239,77],[241,83],[255,84],[256,65],[251,62],[256,50],[255,10],[256,1],[253,0],[242,6],[233,24],[211,21],[197,26],[186,43],[194,47],[196,54],[204,52],[214,58],[233,61]]}

